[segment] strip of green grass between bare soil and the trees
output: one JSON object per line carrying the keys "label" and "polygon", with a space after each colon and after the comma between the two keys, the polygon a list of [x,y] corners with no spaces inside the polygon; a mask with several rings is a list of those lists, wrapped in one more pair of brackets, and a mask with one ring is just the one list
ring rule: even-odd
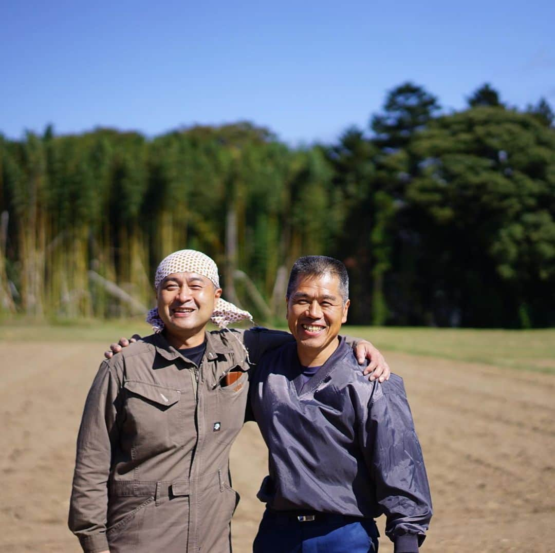
{"label": "strip of green grass between bare soil and the trees", "polygon": [[[0,321],[0,341],[103,342],[120,336],[150,334],[142,318],[126,321],[62,321],[51,324],[24,318]],[[399,328],[346,326],[344,334],[369,339],[382,351],[398,351],[487,363],[497,367],[555,373],[555,329],[530,331],[471,328]]]}

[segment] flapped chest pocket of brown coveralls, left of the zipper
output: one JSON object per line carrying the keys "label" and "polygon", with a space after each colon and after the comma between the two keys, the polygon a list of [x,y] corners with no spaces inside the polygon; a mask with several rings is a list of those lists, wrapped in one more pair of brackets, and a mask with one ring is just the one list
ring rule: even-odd
{"label": "flapped chest pocket of brown coveralls, left of the zipper", "polygon": [[127,380],[125,434],[132,440],[135,452],[156,453],[179,444],[180,390],[152,383]]}

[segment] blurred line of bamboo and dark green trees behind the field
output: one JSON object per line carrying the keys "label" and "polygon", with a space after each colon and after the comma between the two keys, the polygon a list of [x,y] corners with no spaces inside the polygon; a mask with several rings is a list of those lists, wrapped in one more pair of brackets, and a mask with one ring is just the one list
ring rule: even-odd
{"label": "blurred line of bamboo and dark green trees behind the field", "polygon": [[259,321],[282,318],[295,258],[323,253],[349,268],[350,322],[552,326],[552,123],[543,99],[517,110],[484,85],[445,113],[405,83],[331,145],[249,123],[0,136],[0,310],[140,312],[157,263],[191,247]]}

